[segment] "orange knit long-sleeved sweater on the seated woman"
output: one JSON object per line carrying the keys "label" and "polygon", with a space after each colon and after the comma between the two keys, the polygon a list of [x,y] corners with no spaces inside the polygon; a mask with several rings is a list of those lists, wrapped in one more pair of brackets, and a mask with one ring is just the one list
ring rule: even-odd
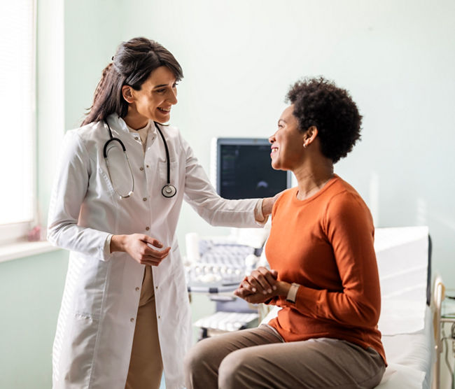
{"label": "orange knit long-sleeved sweater on the seated woman", "polygon": [[371,346],[385,362],[370,211],[338,176],[308,199],[296,196],[292,188],[274,204],[265,253],[279,280],[301,286],[295,305],[272,299],[282,309],[269,325],[285,341],[328,337]]}

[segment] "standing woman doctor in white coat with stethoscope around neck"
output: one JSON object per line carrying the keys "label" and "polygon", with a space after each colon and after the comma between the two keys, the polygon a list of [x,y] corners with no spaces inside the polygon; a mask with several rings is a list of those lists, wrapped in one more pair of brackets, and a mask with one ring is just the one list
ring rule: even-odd
{"label": "standing woman doctor in white coat with stethoscope around neck", "polygon": [[211,225],[255,227],[273,199],[226,200],[168,127],[181,66],[146,38],[120,44],[83,126],[66,133],[48,240],[71,250],[54,388],[183,388],[191,343],[175,230],[185,199]]}

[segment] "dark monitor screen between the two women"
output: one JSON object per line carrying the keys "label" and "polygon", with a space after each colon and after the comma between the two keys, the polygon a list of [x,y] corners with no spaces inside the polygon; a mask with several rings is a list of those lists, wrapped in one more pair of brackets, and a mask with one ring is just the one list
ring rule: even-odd
{"label": "dark monitor screen between the two women", "polygon": [[274,170],[267,139],[216,139],[216,191],[225,199],[273,197],[290,188],[290,172]]}

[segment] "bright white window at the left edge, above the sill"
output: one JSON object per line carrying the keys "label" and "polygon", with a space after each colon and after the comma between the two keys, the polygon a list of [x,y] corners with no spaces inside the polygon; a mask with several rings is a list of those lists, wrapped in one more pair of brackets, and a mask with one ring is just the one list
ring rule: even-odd
{"label": "bright white window at the left edge, above the sill", "polygon": [[0,243],[36,220],[35,2],[0,6]]}

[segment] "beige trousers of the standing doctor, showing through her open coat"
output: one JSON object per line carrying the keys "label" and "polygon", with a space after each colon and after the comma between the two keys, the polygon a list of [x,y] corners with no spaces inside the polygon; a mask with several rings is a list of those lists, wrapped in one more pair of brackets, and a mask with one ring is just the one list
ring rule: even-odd
{"label": "beige trousers of the standing doctor, showing through her open coat", "polygon": [[146,266],[125,389],[158,389],[161,376],[162,358],[152,269]]}

